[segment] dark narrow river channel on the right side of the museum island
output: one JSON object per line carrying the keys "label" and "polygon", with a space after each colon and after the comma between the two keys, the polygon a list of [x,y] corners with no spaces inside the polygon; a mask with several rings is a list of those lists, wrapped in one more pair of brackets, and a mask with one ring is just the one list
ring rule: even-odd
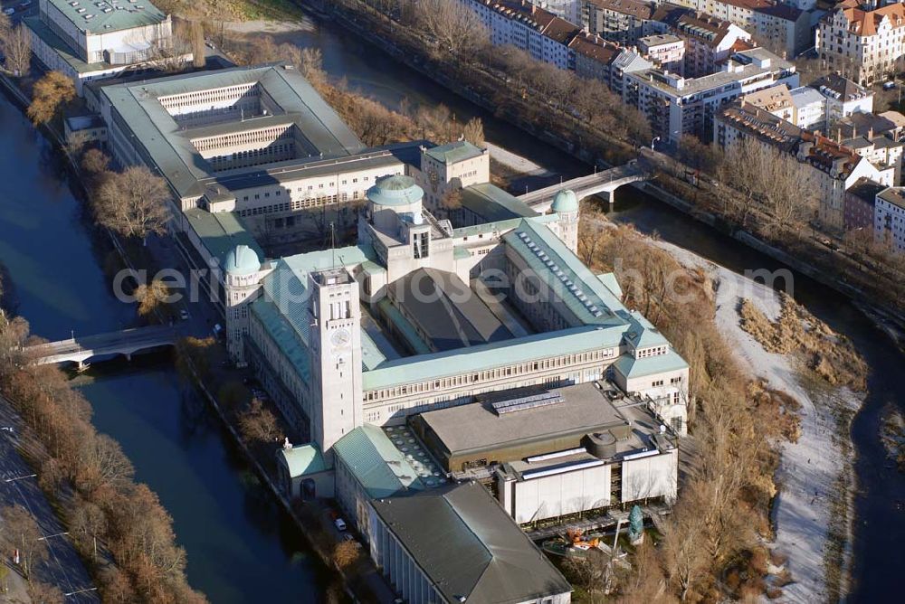
{"label": "dark narrow river channel on the right side of the museum island", "polygon": [[[397,109],[402,99],[408,99],[414,105],[443,103],[460,120],[480,116],[489,142],[555,173],[548,177],[549,183],[556,182],[560,176],[568,179],[590,172],[589,166],[452,95],[334,24],[306,22],[304,31],[282,35],[300,45],[319,48],[324,69],[331,77],[345,78],[351,89],[367,94],[387,107]],[[519,183],[515,187],[516,193],[522,185]],[[537,185],[531,183],[532,188]],[[775,260],[631,187],[617,192],[615,211],[611,212],[610,218],[633,223],[645,233],[657,232],[662,240],[694,251],[739,274],[749,269],[782,268]],[[888,599],[890,594],[900,591],[900,573],[905,568],[905,555],[901,553],[899,543],[900,535],[905,534],[905,512],[901,509],[905,503],[905,475],[888,467],[879,428],[881,412],[887,404],[897,405],[905,411],[905,382],[899,379],[905,371],[905,354],[850,301],[813,279],[795,272],[793,275],[795,299],[836,332],[851,338],[871,368],[870,392],[852,426],[858,485],[851,600]]]}

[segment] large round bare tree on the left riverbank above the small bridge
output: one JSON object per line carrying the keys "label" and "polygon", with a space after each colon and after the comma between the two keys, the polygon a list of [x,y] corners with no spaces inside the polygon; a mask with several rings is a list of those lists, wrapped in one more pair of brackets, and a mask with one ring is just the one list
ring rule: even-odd
{"label": "large round bare tree on the left riverbank above the small bridge", "polygon": [[163,178],[145,166],[132,166],[111,174],[98,187],[94,210],[101,225],[124,237],[139,237],[167,231],[170,193]]}

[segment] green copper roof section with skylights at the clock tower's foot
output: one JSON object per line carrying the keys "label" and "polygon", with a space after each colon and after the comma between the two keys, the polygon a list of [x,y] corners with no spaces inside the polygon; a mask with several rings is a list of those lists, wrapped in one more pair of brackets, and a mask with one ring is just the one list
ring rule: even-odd
{"label": "green copper roof section with skylights at the clock tower's foot", "polygon": [[338,439],[332,450],[371,499],[424,489],[402,451],[376,426],[365,424],[352,430]]}

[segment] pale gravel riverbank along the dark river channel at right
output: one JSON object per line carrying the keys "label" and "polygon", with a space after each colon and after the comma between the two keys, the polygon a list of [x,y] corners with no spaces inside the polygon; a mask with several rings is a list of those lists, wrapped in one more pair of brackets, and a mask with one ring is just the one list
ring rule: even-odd
{"label": "pale gravel riverbank along the dark river channel at right", "polygon": [[[716,288],[719,332],[752,377],[786,392],[801,405],[798,439],[782,446],[776,472],[779,492],[771,519],[773,549],[786,559],[792,582],[783,588],[789,601],[836,601],[847,593],[851,568],[854,490],[853,414],[862,396],[834,391],[808,373],[790,354],[772,354],[741,327],[738,309],[749,300],[770,320],[781,312],[777,292],[662,241],[657,245],[693,269],[702,269]],[[790,411],[792,412],[792,411]]]}

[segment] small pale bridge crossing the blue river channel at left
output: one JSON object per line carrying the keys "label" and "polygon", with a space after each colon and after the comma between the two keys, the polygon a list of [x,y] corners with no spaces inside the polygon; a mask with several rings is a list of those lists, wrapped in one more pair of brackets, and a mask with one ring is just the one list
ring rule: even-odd
{"label": "small pale bridge crossing the blue river channel at left", "polygon": [[157,346],[176,344],[176,340],[183,335],[181,326],[136,327],[110,334],[71,337],[59,342],[26,346],[24,352],[39,365],[78,363],[81,369],[92,357],[123,354],[131,358],[132,354]]}

